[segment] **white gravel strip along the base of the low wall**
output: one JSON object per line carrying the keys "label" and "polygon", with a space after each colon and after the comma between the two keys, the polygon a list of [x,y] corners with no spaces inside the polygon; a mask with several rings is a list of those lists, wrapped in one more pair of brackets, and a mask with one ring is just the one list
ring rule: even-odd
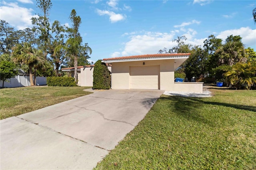
{"label": "white gravel strip along the base of the low wall", "polygon": [[182,96],[182,97],[212,97],[211,92],[207,89],[203,90],[203,93],[189,93],[182,91],[165,91],[164,95],[168,96]]}

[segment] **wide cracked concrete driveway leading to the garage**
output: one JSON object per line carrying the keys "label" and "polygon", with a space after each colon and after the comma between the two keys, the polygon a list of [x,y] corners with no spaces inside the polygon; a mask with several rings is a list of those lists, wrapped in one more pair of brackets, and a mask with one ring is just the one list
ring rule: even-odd
{"label": "wide cracked concrete driveway leading to the garage", "polygon": [[1,120],[0,168],[92,169],[163,92],[96,91]]}

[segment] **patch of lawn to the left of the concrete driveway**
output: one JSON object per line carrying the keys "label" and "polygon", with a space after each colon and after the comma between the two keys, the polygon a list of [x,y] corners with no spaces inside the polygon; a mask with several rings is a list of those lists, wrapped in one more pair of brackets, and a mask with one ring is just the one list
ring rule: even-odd
{"label": "patch of lawn to the left of the concrete driveway", "polygon": [[21,115],[61,103],[90,92],[83,91],[90,87],[18,87],[0,90],[0,118]]}

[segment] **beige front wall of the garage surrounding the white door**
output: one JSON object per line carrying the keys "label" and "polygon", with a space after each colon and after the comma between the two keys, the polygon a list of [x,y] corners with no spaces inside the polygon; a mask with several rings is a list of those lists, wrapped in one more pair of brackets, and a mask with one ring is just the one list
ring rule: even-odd
{"label": "beige front wall of the garage surrounding the white door", "polygon": [[[143,65],[143,62],[145,63]],[[146,60],[127,61],[112,63],[112,89],[130,89],[130,67],[132,66],[153,66],[160,68],[160,89],[174,90],[174,60]]]}

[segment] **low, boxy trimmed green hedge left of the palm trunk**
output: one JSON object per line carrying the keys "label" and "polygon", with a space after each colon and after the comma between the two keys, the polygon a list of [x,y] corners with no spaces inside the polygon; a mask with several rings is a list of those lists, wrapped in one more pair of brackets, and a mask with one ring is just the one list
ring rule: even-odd
{"label": "low, boxy trimmed green hedge left of the palm trunk", "polygon": [[47,77],[48,86],[76,86],[74,77]]}

